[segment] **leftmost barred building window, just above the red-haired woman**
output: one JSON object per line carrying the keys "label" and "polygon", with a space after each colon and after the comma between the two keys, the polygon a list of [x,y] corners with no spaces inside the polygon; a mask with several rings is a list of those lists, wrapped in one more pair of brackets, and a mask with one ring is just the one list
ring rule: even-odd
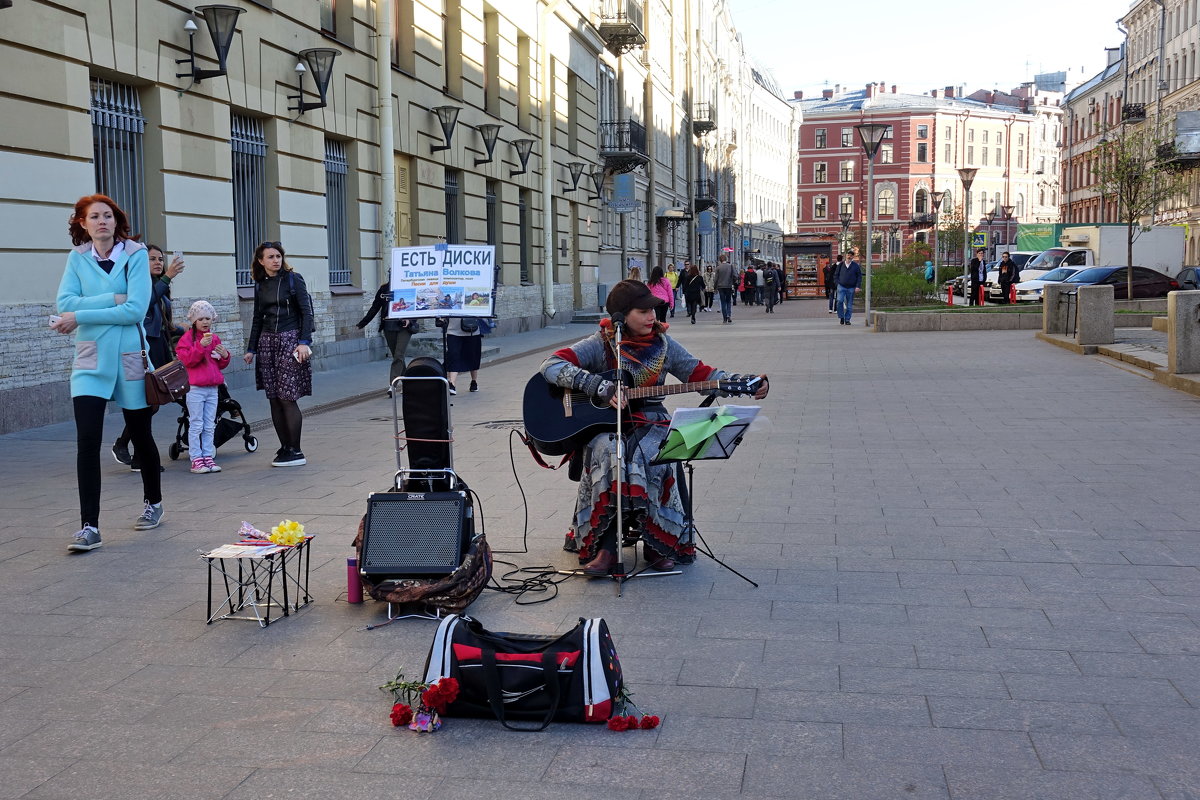
{"label": "leftmost barred building window, just above the red-haired woman", "polygon": [[92,78],[91,145],[96,190],[121,206],[136,234],[144,234],[146,228],[144,131],[145,118],[137,90]]}

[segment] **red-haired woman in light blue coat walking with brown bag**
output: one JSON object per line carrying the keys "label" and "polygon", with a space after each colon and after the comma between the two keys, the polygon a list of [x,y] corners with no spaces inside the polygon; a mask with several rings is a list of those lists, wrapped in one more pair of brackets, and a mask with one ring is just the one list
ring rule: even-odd
{"label": "red-haired woman in light blue coat walking with brown bag", "polygon": [[[58,309],[50,327],[74,333],[71,399],[76,419],[76,473],[79,481],[79,517],[83,524],[68,551],[101,546],[100,446],[104,410],[115,401],[142,459],[145,507],[134,530],[150,530],[162,522],[158,447],[154,443],[145,399],[142,319],[150,305],[150,267],[146,248],[130,236],[125,212],[110,198],[79,198],[68,229],[74,249],[59,283]],[[151,365],[161,366],[161,365]]]}

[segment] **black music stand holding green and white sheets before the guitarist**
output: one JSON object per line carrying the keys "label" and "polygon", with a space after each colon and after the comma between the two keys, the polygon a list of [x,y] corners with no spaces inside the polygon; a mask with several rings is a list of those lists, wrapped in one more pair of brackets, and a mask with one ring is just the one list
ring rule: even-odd
{"label": "black music stand holding green and white sheets before the guitarist", "polygon": [[[695,486],[692,462],[724,461],[732,456],[737,446],[742,444],[746,428],[757,416],[758,408],[757,405],[722,405],[718,409],[706,407],[676,409],[674,414],[671,415],[667,437],[662,440],[659,453],[650,461],[652,464],[676,464],[676,474],[679,477],[682,477],[679,475],[680,468],[688,470],[688,480],[679,481],[679,499],[683,500],[684,519],[688,523],[684,535],[691,534],[692,546],[697,553],[708,557],[709,560],[738,576],[755,589],[758,588],[757,583],[713,554],[713,548],[696,528],[691,499]],[[732,416],[733,421],[715,427],[715,422],[722,416]]]}

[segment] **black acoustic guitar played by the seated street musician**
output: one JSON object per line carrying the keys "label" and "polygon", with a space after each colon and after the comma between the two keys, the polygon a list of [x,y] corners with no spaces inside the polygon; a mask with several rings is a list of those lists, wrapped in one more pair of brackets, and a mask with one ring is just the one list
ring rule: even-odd
{"label": "black acoustic guitar played by the seated street musician", "polygon": [[[632,378],[623,372],[628,385]],[[617,371],[601,373],[605,380],[617,380]],[[757,377],[746,380],[698,380],[690,384],[672,384],[670,386],[629,387],[625,397],[630,404],[625,409],[625,419],[630,410],[636,410],[636,402],[647,397],[683,395],[684,392],[703,392],[719,389],[730,395],[754,395],[762,380]],[[526,435],[533,441],[538,452],[546,456],[563,456],[578,446],[586,445],[592,437],[606,431],[617,429],[617,409],[607,403],[600,404],[583,392],[569,391],[546,381],[540,372],[534,373],[526,384],[523,402]]]}

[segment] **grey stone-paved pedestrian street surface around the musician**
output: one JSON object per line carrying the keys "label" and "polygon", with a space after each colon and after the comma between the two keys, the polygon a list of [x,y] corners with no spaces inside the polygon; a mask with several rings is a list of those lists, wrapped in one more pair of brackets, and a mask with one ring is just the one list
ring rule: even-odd
{"label": "grey stone-paved pedestrian street surface around the musician", "polygon": [[[820,302],[708,317],[679,339],[772,375],[762,429],[695,471],[701,531],[760,587],[701,558],[620,597],[568,578],[470,609],[541,633],[605,616],[661,728],[391,728],[377,687],[421,669],[433,627],[365,630],[384,608],[346,602],[366,495],[396,467],[377,362],[316,377],[310,408],[358,402],[306,417],[305,468],[269,467],[269,429],[218,475],[168,462],[158,530],[130,529],[139,481],[106,462],[104,546],[83,555],[70,426],[0,437],[0,796],[1200,795],[1200,401],[1027,332],[883,336]],[[497,339],[454,399],[455,465],[517,551],[498,575],[574,563],[574,485],[521,450],[514,474],[509,432],[575,327]],[[205,625],[198,552],[284,517],[317,535],[316,603]]]}

